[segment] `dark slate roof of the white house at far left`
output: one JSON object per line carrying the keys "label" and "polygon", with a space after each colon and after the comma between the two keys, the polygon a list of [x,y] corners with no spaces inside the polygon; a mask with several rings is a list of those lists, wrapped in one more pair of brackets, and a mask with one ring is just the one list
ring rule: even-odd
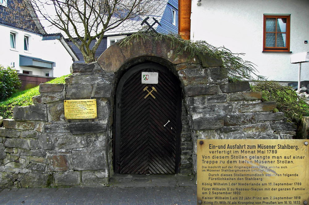
{"label": "dark slate roof of the white house at far left", "polygon": [[[16,8],[22,10],[19,6],[13,7],[13,2],[21,3],[23,0],[7,0],[7,6],[0,5],[0,24],[6,26],[12,26],[18,29],[26,30],[29,32],[33,32],[36,34],[45,34],[45,30],[43,26],[40,24],[38,20],[30,21],[30,22],[21,22],[21,19],[24,19],[18,12],[14,11]],[[30,11],[31,12],[31,11]],[[34,10],[29,12],[29,16],[31,15],[34,19],[37,18]]]}

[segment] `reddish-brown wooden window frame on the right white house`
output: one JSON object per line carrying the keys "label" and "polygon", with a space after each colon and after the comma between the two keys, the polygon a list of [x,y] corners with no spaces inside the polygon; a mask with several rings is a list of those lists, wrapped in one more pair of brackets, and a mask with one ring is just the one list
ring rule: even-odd
{"label": "reddish-brown wooden window frame on the right white house", "polygon": [[[286,18],[286,32],[277,32],[277,26],[275,32],[266,32],[266,18]],[[290,52],[290,15],[269,15],[264,14],[264,26],[263,26],[263,51],[272,52]],[[277,20],[276,20],[277,24]],[[278,33],[286,34],[286,47],[266,47],[266,33],[275,33],[276,38]],[[277,43],[277,40],[275,40]]]}

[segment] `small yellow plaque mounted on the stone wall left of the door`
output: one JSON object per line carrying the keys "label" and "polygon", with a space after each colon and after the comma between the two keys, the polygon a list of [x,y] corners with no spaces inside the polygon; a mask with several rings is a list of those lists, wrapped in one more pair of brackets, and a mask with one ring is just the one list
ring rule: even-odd
{"label": "small yellow plaque mounted on the stone wall left of the door", "polygon": [[97,118],[96,99],[65,100],[65,119],[93,119]]}

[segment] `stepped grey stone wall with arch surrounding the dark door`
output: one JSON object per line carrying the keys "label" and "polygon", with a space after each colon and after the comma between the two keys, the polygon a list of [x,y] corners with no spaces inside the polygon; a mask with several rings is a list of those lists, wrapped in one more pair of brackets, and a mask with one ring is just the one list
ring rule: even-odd
{"label": "stepped grey stone wall with arch surrounding the dark door", "polygon": [[[196,173],[197,139],[291,139],[292,123],[273,113],[248,82],[229,83],[222,61],[176,56],[169,41],[135,39],[110,46],[89,64],[73,64],[65,84],[40,84],[34,105],[15,107],[0,128],[0,186],[99,187],[113,175],[114,93],[121,75],[156,62],[178,76],[182,90],[180,174]],[[138,48],[138,50],[137,50]],[[66,120],[64,100],[96,99],[97,118]]]}

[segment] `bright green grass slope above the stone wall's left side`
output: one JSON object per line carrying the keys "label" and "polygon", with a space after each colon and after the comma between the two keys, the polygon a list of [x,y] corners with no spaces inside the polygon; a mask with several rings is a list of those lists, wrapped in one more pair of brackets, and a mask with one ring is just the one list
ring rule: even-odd
{"label": "bright green grass slope above the stone wall's left side", "polygon": [[[55,78],[47,83],[65,83],[65,78],[69,75],[70,74]],[[39,94],[39,86],[14,93],[10,98],[0,102],[0,116],[2,116],[3,119],[13,118],[14,107],[32,105],[32,97]]]}

